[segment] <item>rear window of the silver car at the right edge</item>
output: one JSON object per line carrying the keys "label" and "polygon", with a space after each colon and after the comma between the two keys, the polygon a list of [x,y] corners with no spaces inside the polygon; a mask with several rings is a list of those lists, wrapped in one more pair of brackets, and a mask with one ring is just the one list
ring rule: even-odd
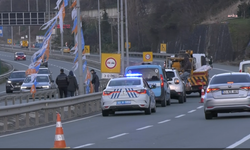
{"label": "rear window of the silver car at the right edge", "polygon": [[210,84],[227,84],[228,82],[233,82],[233,83],[250,82],[250,77],[245,74],[217,76],[211,80]]}

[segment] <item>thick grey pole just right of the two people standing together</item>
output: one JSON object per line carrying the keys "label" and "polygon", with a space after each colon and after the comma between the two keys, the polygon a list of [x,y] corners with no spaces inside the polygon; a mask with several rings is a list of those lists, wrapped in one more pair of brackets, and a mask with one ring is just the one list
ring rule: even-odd
{"label": "thick grey pole just right of the two people standing together", "polygon": [[78,47],[78,70],[79,70],[79,95],[83,95],[83,69],[82,69],[82,40],[81,40],[81,13],[80,13],[80,0],[77,0],[77,47]]}

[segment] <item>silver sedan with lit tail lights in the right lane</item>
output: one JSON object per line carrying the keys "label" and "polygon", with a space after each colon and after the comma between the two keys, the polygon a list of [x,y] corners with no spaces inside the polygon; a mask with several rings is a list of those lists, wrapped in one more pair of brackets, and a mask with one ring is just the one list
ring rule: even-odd
{"label": "silver sedan with lit tail lights in the right lane", "polygon": [[250,74],[224,73],[211,78],[204,96],[206,119],[218,113],[250,111]]}

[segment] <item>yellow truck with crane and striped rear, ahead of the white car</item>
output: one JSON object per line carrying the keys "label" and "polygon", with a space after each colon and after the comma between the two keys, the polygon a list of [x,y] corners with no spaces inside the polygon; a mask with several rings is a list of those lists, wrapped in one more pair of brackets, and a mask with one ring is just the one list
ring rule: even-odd
{"label": "yellow truck with crane and striped rear, ahead of the white car", "polygon": [[[200,55],[199,57],[201,56],[202,55]],[[211,69],[211,67],[201,63],[201,61],[197,62],[197,59],[193,57],[192,50],[181,50],[179,54],[176,54],[172,57],[167,57],[164,66],[168,69],[174,68],[178,70],[180,74],[182,74],[182,68],[184,66],[184,57],[188,57],[189,61],[191,62],[191,73],[185,85],[186,94],[198,92],[201,95],[202,88],[204,88],[204,86],[207,86],[209,82],[209,70]]]}

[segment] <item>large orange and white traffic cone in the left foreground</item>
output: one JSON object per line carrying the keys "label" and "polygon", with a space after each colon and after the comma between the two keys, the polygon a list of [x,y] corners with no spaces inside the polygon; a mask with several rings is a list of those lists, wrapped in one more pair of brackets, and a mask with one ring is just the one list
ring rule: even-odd
{"label": "large orange and white traffic cone in the left foreground", "polygon": [[57,113],[57,121],[56,121],[56,135],[55,135],[55,143],[54,148],[67,148],[66,142],[63,135],[63,128],[61,123],[60,114]]}

